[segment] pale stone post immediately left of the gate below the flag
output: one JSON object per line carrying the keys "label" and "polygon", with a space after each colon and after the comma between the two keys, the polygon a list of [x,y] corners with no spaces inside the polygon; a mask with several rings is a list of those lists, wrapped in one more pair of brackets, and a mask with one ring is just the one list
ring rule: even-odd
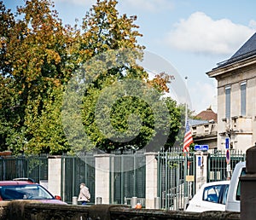
{"label": "pale stone post immediately left of the gate below the flag", "polygon": [[157,197],[157,153],[148,152],[146,156],[146,203],[147,209],[154,209],[154,198]]}

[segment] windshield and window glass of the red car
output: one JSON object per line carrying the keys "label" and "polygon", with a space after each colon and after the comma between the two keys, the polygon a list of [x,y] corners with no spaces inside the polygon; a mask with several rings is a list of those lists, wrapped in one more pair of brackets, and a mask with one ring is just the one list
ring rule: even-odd
{"label": "windshield and window glass of the red car", "polygon": [[1,186],[3,200],[53,200],[54,197],[36,184]]}

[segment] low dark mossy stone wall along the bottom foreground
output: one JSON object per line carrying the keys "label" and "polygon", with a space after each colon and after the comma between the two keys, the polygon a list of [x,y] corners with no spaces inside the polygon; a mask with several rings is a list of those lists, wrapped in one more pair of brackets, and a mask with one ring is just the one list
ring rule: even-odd
{"label": "low dark mossy stone wall along the bottom foreground", "polygon": [[29,201],[0,202],[0,220],[239,220],[240,213],[227,211],[206,211],[202,213],[185,211],[162,211],[131,209],[120,205],[55,205]]}

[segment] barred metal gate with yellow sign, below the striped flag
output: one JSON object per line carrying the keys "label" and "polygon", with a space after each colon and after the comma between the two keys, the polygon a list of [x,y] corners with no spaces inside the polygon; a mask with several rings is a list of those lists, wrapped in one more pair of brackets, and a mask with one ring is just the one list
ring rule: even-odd
{"label": "barred metal gate with yellow sign, below the striped flag", "polygon": [[186,200],[195,194],[194,160],[194,153],[158,153],[158,197],[162,209],[183,210]]}

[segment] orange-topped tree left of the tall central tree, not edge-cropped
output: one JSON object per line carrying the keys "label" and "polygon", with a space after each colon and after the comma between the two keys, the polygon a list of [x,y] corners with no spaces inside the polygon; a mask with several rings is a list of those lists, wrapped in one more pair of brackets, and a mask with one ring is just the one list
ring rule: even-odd
{"label": "orange-topped tree left of the tall central tree, not edge-cropped", "polygon": [[[72,74],[69,49],[73,38],[50,7],[54,5],[47,0],[26,1],[17,9],[21,19],[13,21],[5,46],[11,68],[2,76],[15,85],[12,107],[18,117],[12,124],[14,134],[5,142],[16,152],[67,151],[61,128],[61,94]],[[19,143],[15,142],[17,136],[22,139]]]}

